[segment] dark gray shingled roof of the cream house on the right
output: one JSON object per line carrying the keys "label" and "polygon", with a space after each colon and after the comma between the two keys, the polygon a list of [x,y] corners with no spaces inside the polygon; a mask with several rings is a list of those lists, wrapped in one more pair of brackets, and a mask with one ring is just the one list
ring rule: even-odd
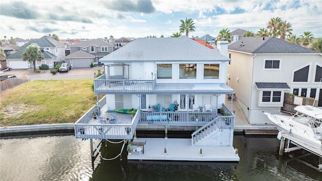
{"label": "dark gray shingled roof of the cream house on the right", "polygon": [[246,53],[317,53],[275,37],[245,37],[228,45],[228,50]]}

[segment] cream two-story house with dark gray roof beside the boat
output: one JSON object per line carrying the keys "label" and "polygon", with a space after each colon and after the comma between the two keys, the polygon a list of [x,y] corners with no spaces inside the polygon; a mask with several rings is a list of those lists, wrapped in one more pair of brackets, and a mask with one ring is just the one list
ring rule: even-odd
{"label": "cream two-story house with dark gray roof beside the boat", "polygon": [[251,124],[272,124],[262,111],[280,110],[284,93],[322,107],[322,54],[274,37],[245,37],[228,46],[227,84]]}

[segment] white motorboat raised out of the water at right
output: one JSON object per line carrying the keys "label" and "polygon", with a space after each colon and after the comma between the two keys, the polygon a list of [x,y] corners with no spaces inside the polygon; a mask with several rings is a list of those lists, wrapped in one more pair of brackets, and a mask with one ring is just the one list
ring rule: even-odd
{"label": "white motorboat raised out of the water at right", "polygon": [[264,112],[280,131],[279,136],[322,157],[322,110],[313,106],[297,106],[293,116]]}

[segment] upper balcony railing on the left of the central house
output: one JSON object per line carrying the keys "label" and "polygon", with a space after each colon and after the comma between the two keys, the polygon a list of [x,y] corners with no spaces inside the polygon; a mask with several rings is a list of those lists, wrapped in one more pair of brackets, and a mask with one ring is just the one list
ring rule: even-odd
{"label": "upper balcony railing on the left of the central house", "polygon": [[94,80],[94,93],[153,93],[155,79],[135,80],[135,79],[102,79],[100,76]]}

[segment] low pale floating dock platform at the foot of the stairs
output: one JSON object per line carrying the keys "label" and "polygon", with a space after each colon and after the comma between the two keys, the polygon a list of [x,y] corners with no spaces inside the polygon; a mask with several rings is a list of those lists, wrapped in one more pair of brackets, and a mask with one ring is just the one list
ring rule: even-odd
{"label": "low pale floating dock platform at the foot of the stairs", "polygon": [[191,138],[134,138],[133,142],[145,144],[132,145],[128,160],[239,161],[232,146],[191,146]]}

